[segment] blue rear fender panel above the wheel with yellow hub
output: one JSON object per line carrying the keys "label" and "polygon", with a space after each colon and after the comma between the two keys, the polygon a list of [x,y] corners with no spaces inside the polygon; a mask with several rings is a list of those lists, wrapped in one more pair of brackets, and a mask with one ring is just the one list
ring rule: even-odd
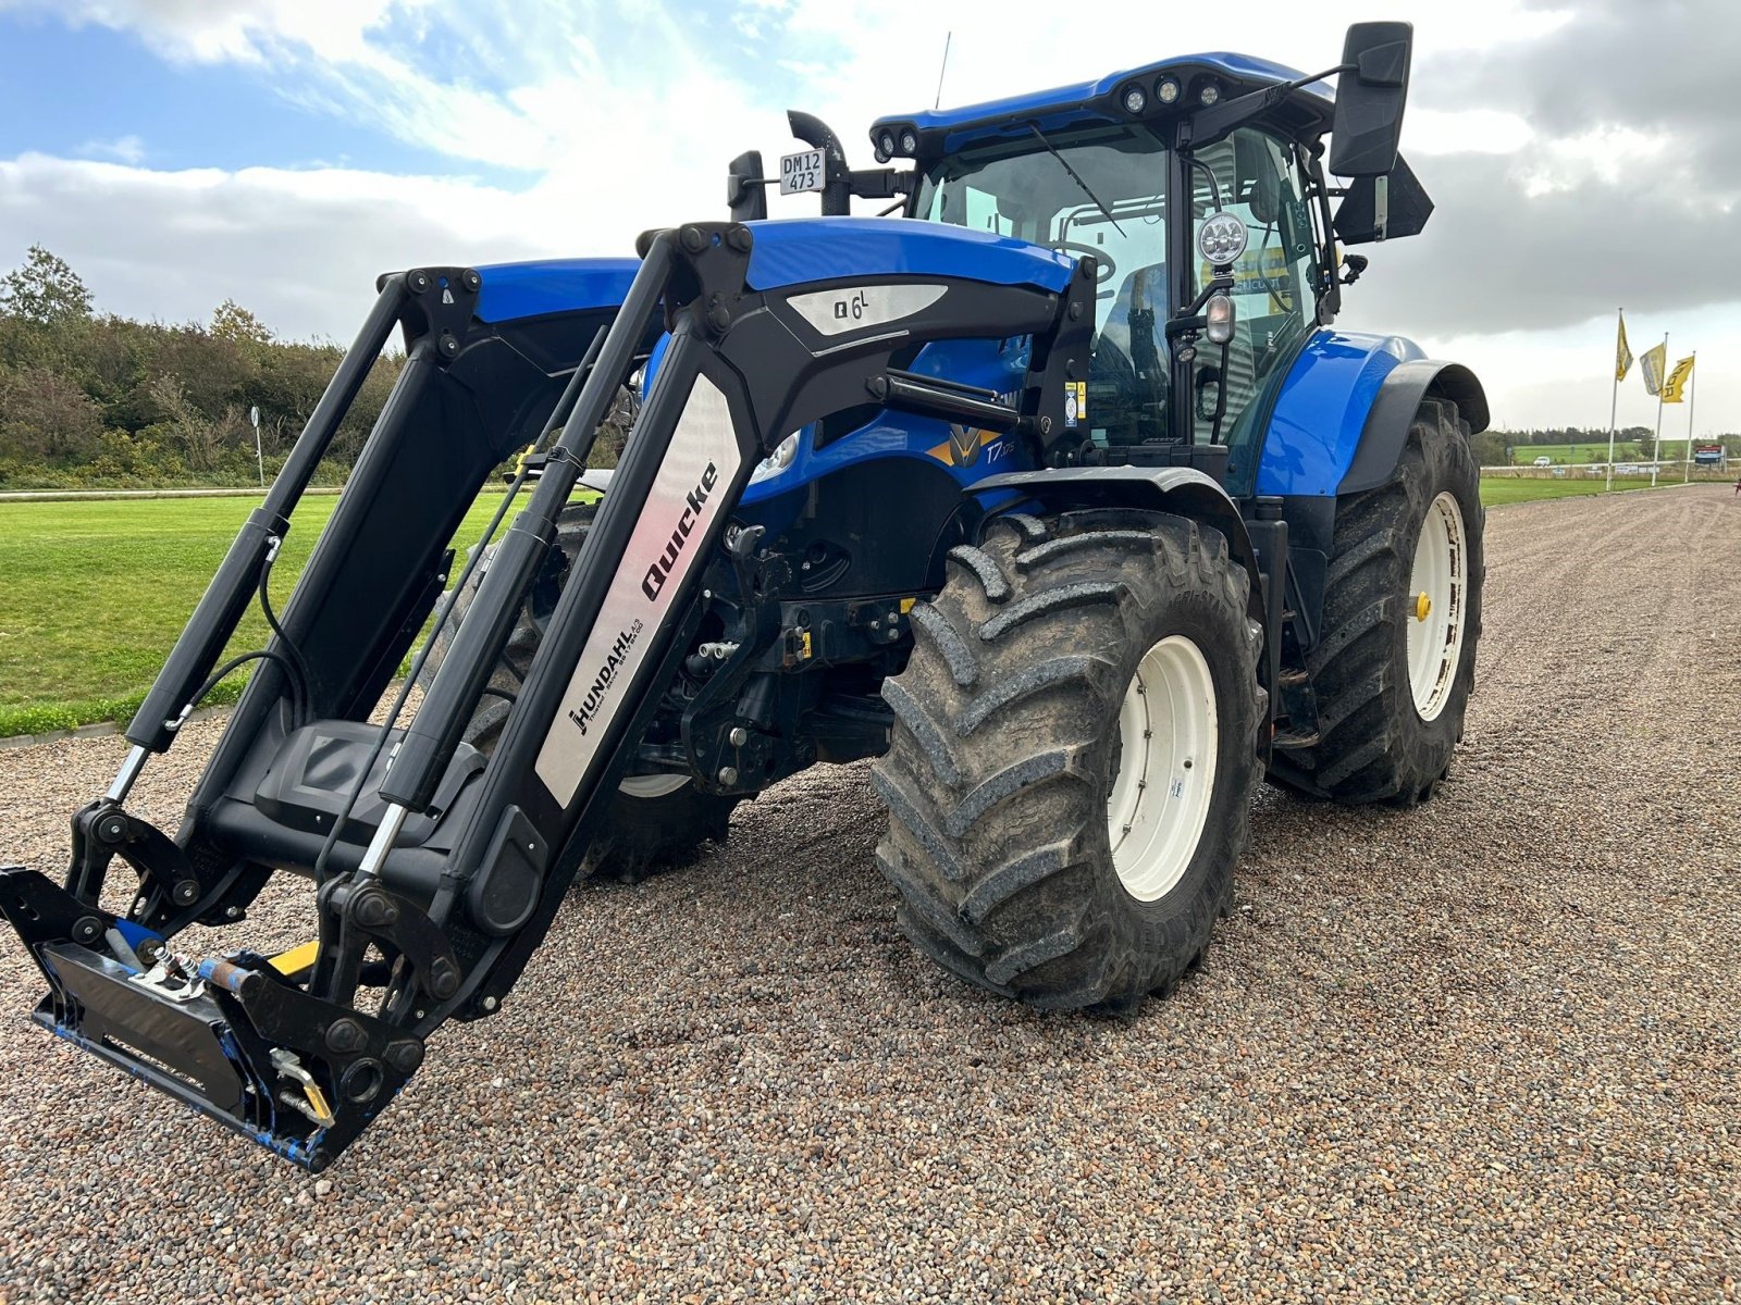
{"label": "blue rear fender panel above the wheel with yellow hub", "polygon": [[1320,327],[1281,381],[1257,465],[1257,492],[1334,496],[1384,378],[1398,362],[1421,357],[1421,346],[1402,336]]}

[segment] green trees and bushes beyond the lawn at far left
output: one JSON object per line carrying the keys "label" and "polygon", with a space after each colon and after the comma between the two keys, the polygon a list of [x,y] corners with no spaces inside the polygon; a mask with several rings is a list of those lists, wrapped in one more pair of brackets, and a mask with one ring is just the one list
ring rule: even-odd
{"label": "green trees and bushes beyond the lawn at far left", "polygon": [[[225,299],[211,322],[134,322],[92,311],[64,259],[31,245],[0,277],[0,489],[245,485],[282,465],[345,350],[284,341]],[[355,461],[402,357],[376,360],[329,454]]]}

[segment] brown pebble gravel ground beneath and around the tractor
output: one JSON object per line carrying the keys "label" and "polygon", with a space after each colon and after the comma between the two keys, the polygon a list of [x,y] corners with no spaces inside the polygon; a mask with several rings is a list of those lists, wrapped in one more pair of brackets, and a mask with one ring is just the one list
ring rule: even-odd
{"label": "brown pebble gravel ground beneath and around the tractor", "polygon": [[[322,1180],[28,1025],[7,948],[0,1300],[1741,1298],[1741,503],[1489,539],[1454,783],[1266,793],[1207,964],[1130,1021],[921,960],[864,767],[578,889]],[[63,861],[120,752],[0,752],[7,856]]]}

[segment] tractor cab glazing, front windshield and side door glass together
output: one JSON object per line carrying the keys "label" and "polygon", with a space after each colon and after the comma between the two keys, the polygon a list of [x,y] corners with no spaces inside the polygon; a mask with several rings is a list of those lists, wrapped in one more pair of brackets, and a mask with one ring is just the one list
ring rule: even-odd
{"label": "tractor cab glazing, front windshield and side door glass together", "polygon": [[[1193,155],[1189,188],[1170,204],[1173,158],[1149,124],[1090,125],[1057,141],[965,148],[926,167],[914,195],[918,218],[1093,259],[1086,397],[1104,454],[1222,444],[1217,435],[1318,320],[1318,254],[1297,150],[1271,130],[1241,127]],[[1224,277],[1233,334],[1224,350],[1205,351],[1191,348],[1196,313],[1187,310],[1215,280],[1198,237],[1217,214],[1236,218],[1248,237]],[[1177,353],[1186,355],[1179,367]]]}

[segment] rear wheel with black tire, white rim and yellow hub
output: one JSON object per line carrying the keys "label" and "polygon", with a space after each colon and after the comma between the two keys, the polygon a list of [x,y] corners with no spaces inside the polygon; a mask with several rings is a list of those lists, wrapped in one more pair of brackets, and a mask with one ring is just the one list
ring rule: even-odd
{"label": "rear wheel with black tire, white rim and yellow hub", "polygon": [[1431,398],[1391,480],[1337,503],[1306,658],[1320,741],[1288,753],[1327,797],[1412,806],[1438,792],[1475,687],[1485,517],[1469,426]]}

